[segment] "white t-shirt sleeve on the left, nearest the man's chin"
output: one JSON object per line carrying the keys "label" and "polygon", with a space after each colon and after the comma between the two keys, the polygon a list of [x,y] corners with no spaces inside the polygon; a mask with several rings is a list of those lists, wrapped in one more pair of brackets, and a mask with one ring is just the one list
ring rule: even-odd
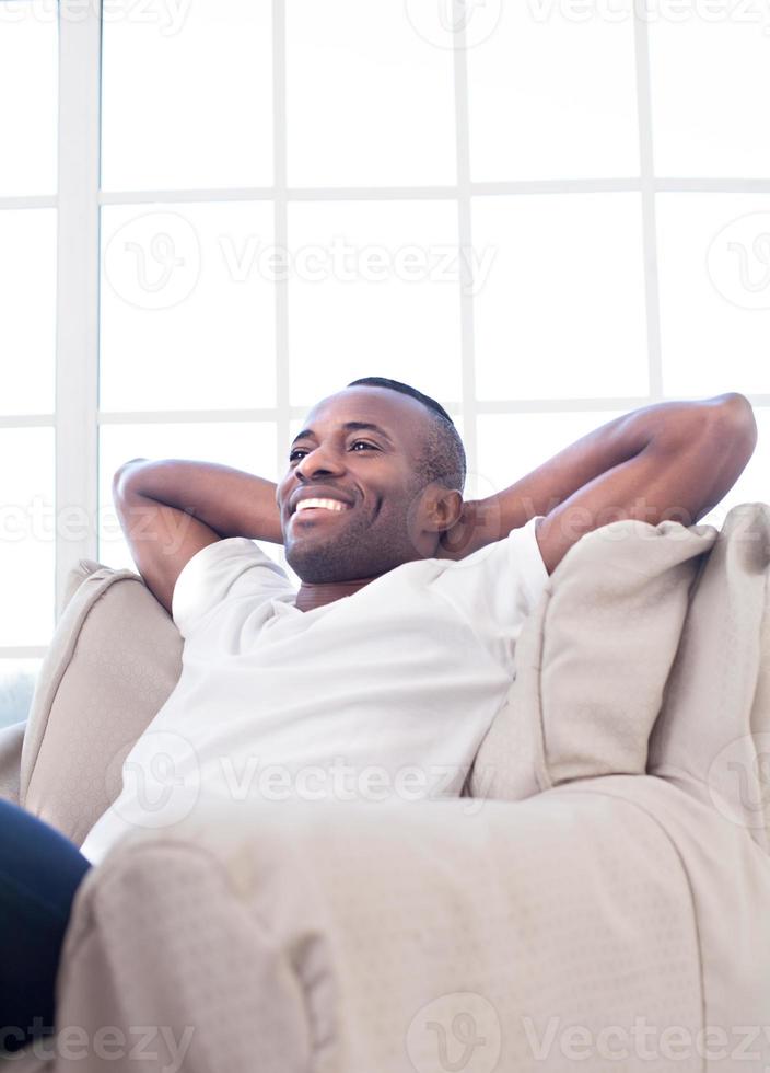
{"label": "white t-shirt sleeve on the left, nearest the man's chin", "polygon": [[285,572],[255,541],[229,536],[187,561],[174,586],[171,613],[182,636],[189,637],[225,600],[248,597],[256,605],[292,591]]}

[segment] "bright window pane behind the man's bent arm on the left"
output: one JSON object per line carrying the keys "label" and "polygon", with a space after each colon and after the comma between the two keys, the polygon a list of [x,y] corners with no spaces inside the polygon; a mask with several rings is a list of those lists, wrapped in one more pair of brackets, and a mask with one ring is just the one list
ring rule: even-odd
{"label": "bright window pane behind the man's bent arm on the left", "polygon": [[[133,458],[219,462],[256,473],[267,481],[277,481],[276,429],[268,422],[103,425],[100,430],[98,559],[115,568],[137,569],[115,512],[112,493],[115,471]],[[259,543],[267,551],[267,546]]]}

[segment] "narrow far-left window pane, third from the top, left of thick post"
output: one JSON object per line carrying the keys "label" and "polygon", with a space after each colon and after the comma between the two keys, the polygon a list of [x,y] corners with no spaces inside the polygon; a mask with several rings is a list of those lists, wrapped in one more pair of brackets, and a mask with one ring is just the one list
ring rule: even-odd
{"label": "narrow far-left window pane, third from the top, left of thick post", "polygon": [[0,647],[47,645],[55,610],[54,429],[0,428]]}

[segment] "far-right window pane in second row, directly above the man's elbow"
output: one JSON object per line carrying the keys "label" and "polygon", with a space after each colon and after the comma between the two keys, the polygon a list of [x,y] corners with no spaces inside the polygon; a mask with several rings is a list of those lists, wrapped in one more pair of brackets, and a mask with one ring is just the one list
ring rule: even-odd
{"label": "far-right window pane in second row, directly above the man's elbow", "polygon": [[770,195],[661,194],[663,385],[770,392]]}

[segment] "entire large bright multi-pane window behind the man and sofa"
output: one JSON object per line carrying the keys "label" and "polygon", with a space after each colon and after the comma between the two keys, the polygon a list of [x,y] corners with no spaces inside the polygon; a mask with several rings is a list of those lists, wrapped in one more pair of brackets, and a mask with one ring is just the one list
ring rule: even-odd
{"label": "entire large bright multi-pane window behind the man and sofa", "polygon": [[469,497],[742,391],[759,445],[704,520],[767,499],[768,36],[721,11],[0,0],[0,719],[69,570],[133,567],[122,461],[276,481],[358,377],[443,403]]}

